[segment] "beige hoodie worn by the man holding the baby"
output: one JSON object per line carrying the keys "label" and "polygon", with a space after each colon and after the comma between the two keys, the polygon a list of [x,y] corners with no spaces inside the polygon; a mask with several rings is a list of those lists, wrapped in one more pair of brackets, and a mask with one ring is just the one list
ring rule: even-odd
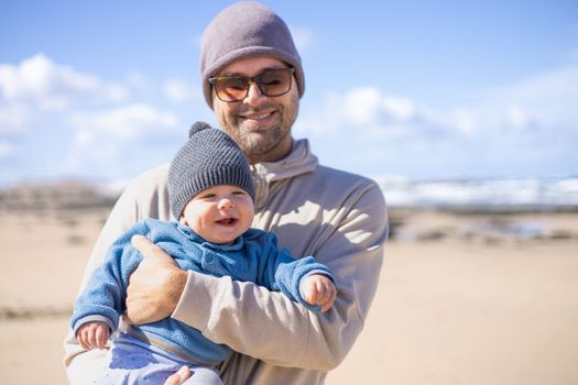
{"label": "beige hoodie worn by the man holding the baby", "polygon": [[[114,206],[95,245],[80,290],[108,245],[145,218],[173,219],[168,166],[134,179]],[[280,248],[314,255],[335,274],[338,295],[325,314],[313,314],[280,293],[252,283],[189,272],[172,315],[239,352],[223,363],[225,384],[323,384],[363,328],[381,271],[388,218],[379,186],[317,164],[306,140],[283,161],[257,164],[253,227],[276,233]],[[105,353],[83,352],[69,332],[68,377],[81,384]],[[360,369],[361,370],[361,369]]]}

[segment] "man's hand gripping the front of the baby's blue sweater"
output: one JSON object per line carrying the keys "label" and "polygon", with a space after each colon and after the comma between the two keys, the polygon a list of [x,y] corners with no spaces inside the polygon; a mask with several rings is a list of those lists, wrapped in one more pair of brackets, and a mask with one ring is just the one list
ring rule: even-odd
{"label": "man's hand gripping the front of the baby's blue sweater", "polygon": [[161,248],[142,235],[131,240],[143,260],[132,272],[127,288],[127,316],[134,324],[170,317],[175,310],[187,280],[187,272]]}

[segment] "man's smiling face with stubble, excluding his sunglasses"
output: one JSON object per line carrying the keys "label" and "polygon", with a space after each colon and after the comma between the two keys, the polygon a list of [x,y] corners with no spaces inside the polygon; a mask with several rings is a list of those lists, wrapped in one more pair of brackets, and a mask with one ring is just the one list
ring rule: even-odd
{"label": "man's smiling face with stubble, excluding his sunglasses", "polygon": [[[219,76],[255,76],[266,69],[285,68],[281,61],[254,57],[231,63]],[[299,105],[295,78],[291,90],[279,97],[266,97],[251,84],[241,101],[226,102],[212,91],[212,107],[219,125],[241,147],[251,164],[279,161],[291,152],[291,127]]]}

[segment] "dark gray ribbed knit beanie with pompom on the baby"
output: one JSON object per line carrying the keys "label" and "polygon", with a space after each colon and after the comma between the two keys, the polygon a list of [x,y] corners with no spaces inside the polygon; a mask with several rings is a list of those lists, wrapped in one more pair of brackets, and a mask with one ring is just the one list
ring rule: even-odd
{"label": "dark gray ribbed knit beanie with pompom on the baby", "polygon": [[249,162],[232,139],[204,122],[193,124],[188,136],[168,168],[171,211],[176,219],[195,195],[217,185],[242,188],[254,200]]}

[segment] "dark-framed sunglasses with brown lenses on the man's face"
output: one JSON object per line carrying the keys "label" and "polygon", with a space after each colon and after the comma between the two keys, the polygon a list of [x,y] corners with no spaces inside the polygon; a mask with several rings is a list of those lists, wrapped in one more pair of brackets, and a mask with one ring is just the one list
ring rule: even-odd
{"label": "dark-framed sunglasses with brown lenses on the man's face", "polygon": [[257,85],[259,91],[266,97],[277,97],[291,90],[291,78],[294,67],[268,69],[259,75],[247,76],[215,76],[209,82],[215,88],[217,98],[226,102],[241,101],[249,95],[251,84]]}

